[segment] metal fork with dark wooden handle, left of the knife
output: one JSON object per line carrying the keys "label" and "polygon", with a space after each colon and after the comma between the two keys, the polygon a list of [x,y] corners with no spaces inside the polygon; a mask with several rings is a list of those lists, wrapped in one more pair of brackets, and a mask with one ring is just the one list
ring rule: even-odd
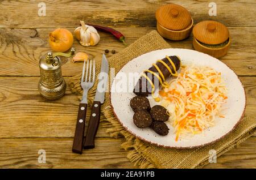
{"label": "metal fork with dark wooden handle, left of the knife", "polygon": [[[86,66],[86,73],[85,73],[85,66]],[[88,71],[89,71],[89,74],[88,74]],[[80,154],[82,153],[83,142],[84,142],[86,109],[88,104],[87,95],[88,95],[89,89],[93,87],[94,80],[95,80],[95,61],[92,59],[88,60],[87,63],[86,61],[84,61],[84,66],[82,67],[82,78],[81,78],[81,87],[84,90],[84,92],[82,93],[82,100],[80,102],[79,112],[77,114],[76,131],[75,131],[75,137],[73,140],[73,148],[72,148],[72,151],[75,153],[80,153]]]}

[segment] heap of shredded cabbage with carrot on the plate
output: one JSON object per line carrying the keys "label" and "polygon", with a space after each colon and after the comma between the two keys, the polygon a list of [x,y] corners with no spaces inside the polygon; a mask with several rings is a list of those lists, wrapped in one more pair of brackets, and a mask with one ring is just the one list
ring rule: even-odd
{"label": "heap of shredded cabbage with carrot on the plate", "polygon": [[220,113],[226,93],[220,72],[210,67],[181,67],[177,78],[159,91],[160,103],[170,113],[175,141],[214,126],[216,117],[224,118]]}

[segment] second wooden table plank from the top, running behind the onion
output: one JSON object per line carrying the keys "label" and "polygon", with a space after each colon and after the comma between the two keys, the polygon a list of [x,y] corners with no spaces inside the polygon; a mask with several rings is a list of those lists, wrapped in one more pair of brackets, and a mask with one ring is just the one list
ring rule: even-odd
{"label": "second wooden table plank from the top, running behind the onion", "polygon": [[[48,29],[3,29],[0,28],[0,76],[39,76],[38,62],[41,55],[49,50]],[[68,28],[73,31],[74,28]],[[127,44],[155,28],[117,28],[126,36]],[[221,58],[238,75],[256,75],[256,52],[254,39],[256,27],[230,27],[232,45],[228,55]],[[243,32],[243,33],[241,33]],[[77,52],[86,52],[100,61],[105,49],[116,52],[125,46],[107,33],[100,33],[101,41],[97,46],[84,47],[75,40]],[[168,41],[172,48],[193,49],[192,37],[183,41]],[[108,56],[112,55],[111,53]],[[63,66],[63,75],[72,76],[81,71],[81,63],[67,63]]]}

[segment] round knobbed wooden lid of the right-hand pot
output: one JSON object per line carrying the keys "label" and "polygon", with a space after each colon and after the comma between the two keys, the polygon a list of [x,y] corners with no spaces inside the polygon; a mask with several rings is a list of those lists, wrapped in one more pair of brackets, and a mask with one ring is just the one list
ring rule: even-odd
{"label": "round knobbed wooden lid of the right-hand pot", "polygon": [[221,44],[229,38],[229,30],[224,24],[205,20],[195,25],[193,36],[205,44]]}

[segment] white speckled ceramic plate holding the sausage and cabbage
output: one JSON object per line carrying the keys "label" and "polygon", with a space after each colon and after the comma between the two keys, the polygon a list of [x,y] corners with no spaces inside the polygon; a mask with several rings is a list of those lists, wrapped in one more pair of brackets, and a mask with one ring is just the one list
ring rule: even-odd
{"label": "white speckled ceramic plate holding the sausage and cabbage", "polygon": [[[162,59],[166,55],[179,55],[183,65],[189,65],[191,63],[199,66],[209,66],[221,72],[222,78],[228,88],[228,100],[224,105],[225,110],[222,114],[225,118],[217,118],[215,126],[204,130],[201,134],[195,135],[189,139],[180,139],[175,142],[174,128],[169,125],[170,131],[167,136],[160,136],[156,134],[150,128],[138,128],[133,123],[133,110],[130,108],[130,100],[135,95],[131,92],[134,88],[133,83],[128,83],[127,88],[130,88],[130,92],[117,92],[117,83],[120,83],[120,77],[122,74],[129,74],[129,72],[143,72],[151,67],[152,63],[155,63],[157,59]],[[136,79],[137,82],[138,79]],[[115,87],[114,87],[115,86]],[[238,79],[237,75],[228,66],[210,55],[197,52],[195,50],[188,49],[162,49],[154,52],[143,54],[130,62],[128,62],[115,76],[111,92],[110,100],[115,116],[128,131],[137,136],[139,139],[146,142],[168,147],[168,148],[193,148],[201,145],[213,143],[218,139],[223,138],[226,134],[236,127],[238,122],[243,116],[246,104],[246,96],[243,85]],[[150,100],[151,107],[156,104],[154,100]]]}

